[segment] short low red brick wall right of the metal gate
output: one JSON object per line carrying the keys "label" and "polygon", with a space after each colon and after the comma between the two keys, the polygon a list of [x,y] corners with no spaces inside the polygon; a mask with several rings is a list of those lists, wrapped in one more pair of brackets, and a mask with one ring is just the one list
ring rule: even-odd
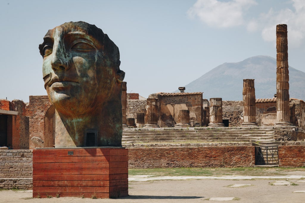
{"label": "short low red brick wall right of the metal gate", "polygon": [[278,166],[279,167],[304,167],[305,166],[305,146],[278,146]]}

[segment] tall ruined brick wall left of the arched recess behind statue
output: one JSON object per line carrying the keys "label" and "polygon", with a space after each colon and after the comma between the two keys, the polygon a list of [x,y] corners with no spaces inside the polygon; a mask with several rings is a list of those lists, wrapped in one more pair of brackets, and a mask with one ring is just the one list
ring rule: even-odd
{"label": "tall ruined brick wall left of the arched recess behind statue", "polygon": [[[29,96],[29,104],[27,106],[27,115],[29,116],[29,134],[30,139],[33,136],[45,140],[45,114],[51,107],[48,96]],[[29,142],[29,149],[35,146]]]}

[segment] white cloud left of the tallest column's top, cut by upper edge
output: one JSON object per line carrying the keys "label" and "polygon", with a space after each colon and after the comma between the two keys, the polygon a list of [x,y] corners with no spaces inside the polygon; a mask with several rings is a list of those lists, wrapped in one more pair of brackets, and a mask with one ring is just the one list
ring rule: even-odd
{"label": "white cloud left of the tallest column's top, cut by upper edge", "polygon": [[198,16],[201,21],[212,27],[232,27],[244,23],[244,11],[256,4],[253,0],[198,0],[190,9],[190,17]]}

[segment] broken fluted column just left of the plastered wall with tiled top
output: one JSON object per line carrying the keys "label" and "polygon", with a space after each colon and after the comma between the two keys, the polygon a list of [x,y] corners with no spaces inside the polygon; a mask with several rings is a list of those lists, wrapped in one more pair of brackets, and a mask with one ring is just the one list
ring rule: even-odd
{"label": "broken fluted column just left of the plastered wall with tiled top", "polygon": [[159,128],[158,99],[147,99],[145,127]]}

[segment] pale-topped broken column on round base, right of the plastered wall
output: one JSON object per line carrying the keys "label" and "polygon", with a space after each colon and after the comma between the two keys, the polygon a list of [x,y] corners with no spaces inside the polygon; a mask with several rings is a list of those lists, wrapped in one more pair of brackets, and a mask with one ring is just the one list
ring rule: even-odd
{"label": "pale-topped broken column on round base, right of the plastered wall", "polygon": [[211,127],[224,127],[222,123],[222,98],[210,98],[210,123]]}

